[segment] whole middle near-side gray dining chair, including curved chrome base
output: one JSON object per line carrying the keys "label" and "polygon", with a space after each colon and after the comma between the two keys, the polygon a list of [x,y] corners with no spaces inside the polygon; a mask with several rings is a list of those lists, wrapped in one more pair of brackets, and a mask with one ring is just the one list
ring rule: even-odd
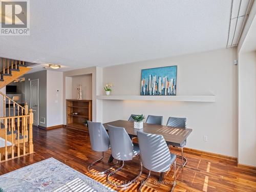
{"label": "whole middle near-side gray dining chair, including curved chrome base", "polygon": [[132,184],[135,180],[137,180],[142,173],[142,165],[140,167],[139,175],[130,182],[126,182],[125,184],[115,184],[110,181],[109,178],[121,170],[124,166],[124,161],[132,160],[133,157],[140,154],[139,146],[133,145],[129,135],[125,131],[123,127],[116,127],[108,125],[109,136],[110,136],[110,144],[111,144],[111,153],[114,159],[118,161],[122,161],[122,166],[111,172],[107,177],[106,181],[115,187],[126,187]]}

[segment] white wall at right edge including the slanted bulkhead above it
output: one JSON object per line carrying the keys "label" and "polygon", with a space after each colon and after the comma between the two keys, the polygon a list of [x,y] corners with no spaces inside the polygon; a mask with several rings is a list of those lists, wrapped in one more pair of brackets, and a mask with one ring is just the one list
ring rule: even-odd
{"label": "white wall at right edge including the slanted bulkhead above it", "polygon": [[256,166],[256,3],[252,5],[238,45],[238,163]]}

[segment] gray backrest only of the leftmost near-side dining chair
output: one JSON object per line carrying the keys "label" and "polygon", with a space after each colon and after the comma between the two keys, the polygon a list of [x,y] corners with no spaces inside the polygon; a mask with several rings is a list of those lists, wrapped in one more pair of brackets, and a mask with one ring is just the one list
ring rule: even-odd
{"label": "gray backrest only of the leftmost near-side dining chair", "polygon": [[87,121],[91,147],[93,151],[105,152],[109,150],[110,138],[102,123]]}

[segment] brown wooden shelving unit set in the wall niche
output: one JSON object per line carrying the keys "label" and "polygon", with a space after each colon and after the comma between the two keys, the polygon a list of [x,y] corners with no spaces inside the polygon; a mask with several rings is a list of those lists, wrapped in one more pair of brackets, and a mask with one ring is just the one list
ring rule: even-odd
{"label": "brown wooden shelving unit set in the wall niche", "polygon": [[[78,112],[78,115],[74,115],[74,112]],[[92,100],[67,99],[67,127],[88,131],[84,125],[86,120],[92,120]]]}

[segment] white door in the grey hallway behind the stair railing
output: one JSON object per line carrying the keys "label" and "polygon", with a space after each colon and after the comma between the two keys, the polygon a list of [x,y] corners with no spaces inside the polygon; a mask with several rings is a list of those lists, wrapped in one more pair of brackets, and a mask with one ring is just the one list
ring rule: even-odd
{"label": "white door in the grey hallway behind the stair railing", "polygon": [[33,79],[30,80],[30,106],[33,110],[34,119],[33,119],[33,125],[38,126],[38,97],[39,97],[39,80]]}

